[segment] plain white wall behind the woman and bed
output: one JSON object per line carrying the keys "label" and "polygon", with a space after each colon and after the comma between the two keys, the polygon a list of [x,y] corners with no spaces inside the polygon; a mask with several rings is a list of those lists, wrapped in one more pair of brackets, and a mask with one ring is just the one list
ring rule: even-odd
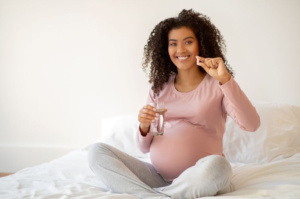
{"label": "plain white wall behind the woman and bed", "polygon": [[300,106],[300,1],[2,0],[0,172],[95,142],[104,117],[138,115],[150,88],[141,66],[149,34],[190,8],[224,36],[250,100]]}

